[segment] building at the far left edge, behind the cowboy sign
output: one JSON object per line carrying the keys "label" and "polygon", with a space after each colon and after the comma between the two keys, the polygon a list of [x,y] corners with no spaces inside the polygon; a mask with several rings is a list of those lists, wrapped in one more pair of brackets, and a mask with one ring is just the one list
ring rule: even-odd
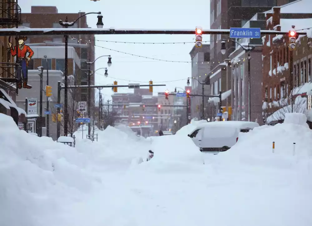
{"label": "building at the far left edge, behind the cowboy sign", "polygon": [[[15,0],[3,0],[0,4],[0,28],[19,27],[22,24],[21,8]],[[16,70],[8,43],[16,45],[16,37],[0,37],[0,113],[11,115],[16,124],[25,122],[26,115],[15,106]],[[7,103],[11,103],[8,107]],[[22,129],[22,128],[21,128]]]}

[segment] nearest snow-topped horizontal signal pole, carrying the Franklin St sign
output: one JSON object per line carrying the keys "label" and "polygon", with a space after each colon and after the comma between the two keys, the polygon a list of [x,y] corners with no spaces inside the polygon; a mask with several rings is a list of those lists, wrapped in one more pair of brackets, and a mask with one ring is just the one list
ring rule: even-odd
{"label": "nearest snow-topped horizontal signal pole, carrying the Franklin St sign", "polygon": [[[261,35],[285,35],[288,32],[274,30],[261,30]],[[110,29],[110,28],[2,28],[0,36],[30,36],[30,35],[146,35],[171,34],[195,35],[194,29]],[[230,29],[207,29],[202,34],[230,34]],[[297,32],[306,35],[306,32]]]}

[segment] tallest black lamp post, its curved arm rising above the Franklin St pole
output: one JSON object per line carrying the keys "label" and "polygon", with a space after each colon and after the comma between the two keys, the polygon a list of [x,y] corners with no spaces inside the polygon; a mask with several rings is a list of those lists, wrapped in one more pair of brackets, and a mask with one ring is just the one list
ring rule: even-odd
{"label": "tallest black lamp post, its curved arm rising above the Franklin St pole", "polygon": [[[97,28],[103,28],[104,24],[103,24],[103,16],[101,14],[101,12],[88,12],[85,13],[83,15],[81,15],[80,17],[78,17],[74,22],[68,22],[68,18],[66,16],[66,20],[65,22],[63,22],[62,20],[59,21],[59,24],[63,27],[72,27],[81,17],[88,15],[88,14],[98,14],[97,18],[98,18],[98,22],[96,23]],[[65,37],[65,71],[64,71],[64,77],[65,77],[65,81],[64,81],[64,136],[67,136],[68,134],[68,101],[67,101],[67,89],[68,89],[68,35],[64,35]],[[89,134],[90,135],[90,134]]]}

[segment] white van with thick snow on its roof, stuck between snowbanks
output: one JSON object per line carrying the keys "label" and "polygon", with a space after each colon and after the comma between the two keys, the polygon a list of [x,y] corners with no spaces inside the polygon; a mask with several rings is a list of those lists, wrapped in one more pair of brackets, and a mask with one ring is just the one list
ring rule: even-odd
{"label": "white van with thick snow on its roof, stuck between snowbanks", "polygon": [[202,151],[220,152],[236,144],[240,132],[248,132],[259,124],[246,121],[215,121],[198,125],[189,137]]}

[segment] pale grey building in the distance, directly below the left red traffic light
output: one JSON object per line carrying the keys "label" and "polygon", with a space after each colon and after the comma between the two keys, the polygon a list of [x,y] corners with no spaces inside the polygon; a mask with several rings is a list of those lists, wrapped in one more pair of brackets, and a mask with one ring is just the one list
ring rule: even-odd
{"label": "pale grey building in the distance, directly below the left red traffic light", "polygon": [[[202,45],[202,48],[194,46],[190,56],[192,61],[192,93],[201,95],[204,92],[204,94],[210,94],[210,84],[204,85],[204,90],[202,91],[202,85],[199,83],[204,82],[207,74],[210,72],[210,45]],[[204,97],[204,111],[207,110],[207,101],[208,97]],[[202,97],[200,96],[192,98],[191,117],[205,118],[205,115],[202,115]]]}

